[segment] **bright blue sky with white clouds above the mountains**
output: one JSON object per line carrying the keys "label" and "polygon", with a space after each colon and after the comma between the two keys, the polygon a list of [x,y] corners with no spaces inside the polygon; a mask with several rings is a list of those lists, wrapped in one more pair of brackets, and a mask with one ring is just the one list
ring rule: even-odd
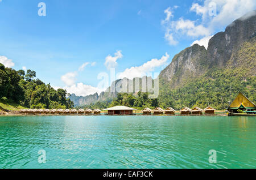
{"label": "bright blue sky with white clouds above the mountains", "polygon": [[[38,15],[39,2],[46,16]],[[108,67],[131,77],[160,72],[194,41],[205,44],[255,9],[250,0],[216,0],[210,16],[211,2],[2,0],[0,62],[35,70],[43,82],[71,93],[99,92],[97,75],[109,74]]]}

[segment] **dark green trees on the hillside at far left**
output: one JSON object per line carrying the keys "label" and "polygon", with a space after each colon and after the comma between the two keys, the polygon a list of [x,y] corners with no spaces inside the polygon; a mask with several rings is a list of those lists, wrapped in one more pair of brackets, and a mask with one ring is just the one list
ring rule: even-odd
{"label": "dark green trees on the hillside at far left", "polygon": [[0,63],[0,98],[2,102],[12,100],[28,108],[53,109],[73,108],[73,102],[68,98],[64,89],[53,89],[51,85],[44,84],[40,79],[34,79],[36,72],[27,70],[15,71],[6,68]]}

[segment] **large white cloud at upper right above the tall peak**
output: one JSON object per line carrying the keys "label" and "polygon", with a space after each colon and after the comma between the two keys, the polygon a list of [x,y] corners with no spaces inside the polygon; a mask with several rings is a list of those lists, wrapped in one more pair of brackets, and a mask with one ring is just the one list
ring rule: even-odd
{"label": "large white cloud at upper right above the tall peak", "polygon": [[[216,7],[216,8],[215,8]],[[169,7],[170,8],[170,7]],[[203,5],[193,3],[190,11],[200,16],[197,20],[184,19],[171,20],[168,9],[164,10],[166,18],[162,20],[165,28],[165,38],[170,45],[176,45],[179,38],[191,38],[202,44],[207,44],[210,35],[223,29],[234,20],[256,8],[255,0],[204,0]],[[164,22],[164,23],[163,23]],[[168,36],[169,35],[169,36]],[[175,38],[174,38],[175,37]]]}

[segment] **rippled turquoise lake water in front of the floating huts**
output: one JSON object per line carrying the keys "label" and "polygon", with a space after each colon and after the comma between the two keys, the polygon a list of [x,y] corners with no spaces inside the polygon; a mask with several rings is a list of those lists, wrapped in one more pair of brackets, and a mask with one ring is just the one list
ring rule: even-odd
{"label": "rippled turquoise lake water in front of the floating huts", "polygon": [[255,117],[0,117],[0,168],[256,168],[255,132]]}

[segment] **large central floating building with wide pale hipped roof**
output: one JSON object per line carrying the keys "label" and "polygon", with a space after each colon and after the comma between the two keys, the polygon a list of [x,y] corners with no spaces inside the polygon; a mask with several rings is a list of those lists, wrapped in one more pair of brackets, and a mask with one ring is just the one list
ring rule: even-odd
{"label": "large central floating building with wide pale hipped roof", "polygon": [[[112,108],[104,109],[106,115],[135,115],[137,109],[129,108],[127,106],[114,106]],[[133,113],[135,111],[135,113]]]}

